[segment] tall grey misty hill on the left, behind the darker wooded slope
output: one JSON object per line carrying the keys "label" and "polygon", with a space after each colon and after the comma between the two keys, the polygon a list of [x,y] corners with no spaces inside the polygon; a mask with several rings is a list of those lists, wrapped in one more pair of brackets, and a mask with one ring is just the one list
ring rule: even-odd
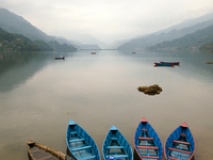
{"label": "tall grey misty hill on the left, behind the darker wooded slope", "polygon": [[[69,51],[76,50],[76,48],[68,40],[60,37],[49,36],[21,16],[18,16],[4,8],[0,8],[0,27],[9,33],[21,34],[32,41],[38,41],[38,44],[41,44],[41,41],[43,41],[43,43],[51,42],[50,45],[52,45],[52,42],[54,42],[54,50],[61,50],[63,46],[66,46],[66,51],[68,48],[70,48]],[[57,46],[59,48],[57,48]]]}

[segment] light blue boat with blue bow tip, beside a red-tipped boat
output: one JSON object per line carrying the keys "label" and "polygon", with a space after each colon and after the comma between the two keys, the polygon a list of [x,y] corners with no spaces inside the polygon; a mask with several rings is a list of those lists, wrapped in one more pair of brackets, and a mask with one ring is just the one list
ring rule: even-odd
{"label": "light blue boat with blue bow tip, beside a red-tipped boat", "polygon": [[115,126],[110,128],[104,139],[102,155],[104,160],[133,160],[129,142]]}

